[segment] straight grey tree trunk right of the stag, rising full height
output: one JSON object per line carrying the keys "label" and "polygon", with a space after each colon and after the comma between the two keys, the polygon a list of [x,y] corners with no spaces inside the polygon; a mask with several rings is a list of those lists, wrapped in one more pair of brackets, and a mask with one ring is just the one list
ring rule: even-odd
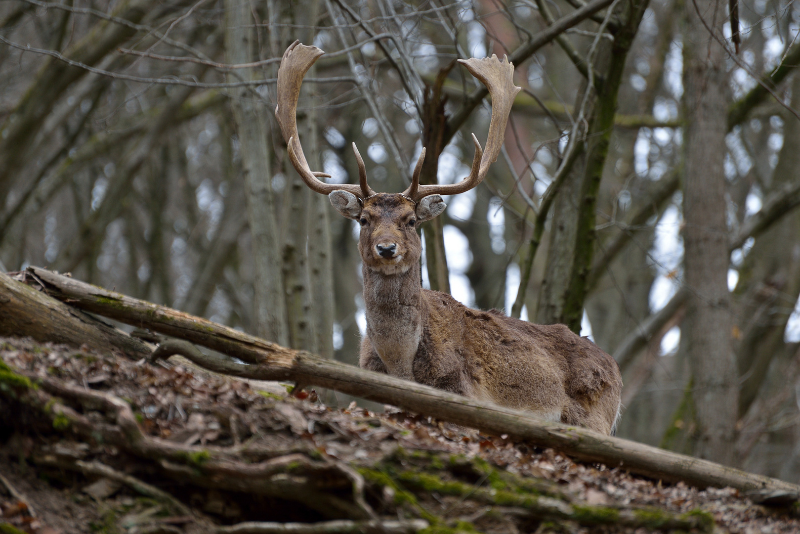
{"label": "straight grey tree trunk right of the stag, rising full height", "polygon": [[[687,119],[683,214],[684,282],[690,290],[683,332],[690,353],[698,424],[695,454],[730,464],[738,391],[730,343],[725,173],[728,78],[723,2],[686,2],[684,116]],[[711,26],[712,24],[716,26]],[[706,25],[717,35],[712,36]]]}

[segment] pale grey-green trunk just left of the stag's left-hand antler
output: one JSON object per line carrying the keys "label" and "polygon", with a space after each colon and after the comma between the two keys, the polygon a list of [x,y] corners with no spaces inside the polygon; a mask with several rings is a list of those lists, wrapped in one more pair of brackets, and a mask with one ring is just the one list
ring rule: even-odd
{"label": "pale grey-green trunk just left of the stag's left-hand antler", "polygon": [[[246,0],[225,2],[226,61],[253,61],[255,30]],[[252,78],[252,69],[240,69],[239,75]],[[237,78],[230,75],[231,81]],[[245,175],[247,218],[252,235],[254,263],[254,315],[258,335],[277,343],[288,344],[286,301],[283,294],[283,274],[279,247],[278,226],[272,195],[272,167],[267,139],[269,125],[266,106],[246,88],[231,90],[230,106],[242,147],[242,167]]]}

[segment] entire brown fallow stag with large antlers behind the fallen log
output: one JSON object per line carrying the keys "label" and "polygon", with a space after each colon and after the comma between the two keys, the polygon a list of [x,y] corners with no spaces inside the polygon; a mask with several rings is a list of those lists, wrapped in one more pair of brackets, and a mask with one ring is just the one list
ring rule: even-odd
{"label": "entire brown fallow stag with large antlers behind the fallen log", "polygon": [[353,143],[359,184],[329,184],[309,168],[296,122],[302,79],[324,54],[294,42],[278,70],[275,115],[289,158],[313,191],[348,219],[361,223],[358,251],[363,260],[366,335],[361,367],[415,380],[474,399],[534,412],[542,419],[613,432],[620,408],[622,378],[617,363],[588,339],[562,324],[536,325],[479,311],[450,295],[423,289],[422,243],[417,226],[446,205],[440,195],[456,195],[481,183],[502,147],[514,96],[514,66],[507,58],[458,60],[489,89],[492,118],[486,150],[472,136],[475,155],[461,183],[420,185],[425,149],[411,185],[402,193],[376,193]]}

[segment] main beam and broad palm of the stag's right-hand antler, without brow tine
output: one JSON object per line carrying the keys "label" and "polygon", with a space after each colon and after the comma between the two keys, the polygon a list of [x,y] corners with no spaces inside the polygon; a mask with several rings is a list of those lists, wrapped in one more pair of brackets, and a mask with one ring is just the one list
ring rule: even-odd
{"label": "main beam and broad palm of the stag's right-hand antler, without brow tine", "polygon": [[481,150],[481,144],[473,134],[475,156],[472,160],[470,175],[460,183],[419,186],[416,195],[411,197],[414,202],[418,202],[422,197],[428,195],[458,195],[458,193],[470,191],[486,178],[486,172],[500,154],[503,139],[506,136],[506,122],[508,122],[511,106],[514,104],[514,97],[522,90],[521,87],[514,85],[514,63],[509,62],[505,55],[503,55],[502,61],[492,54],[491,58],[459,59],[458,62],[466,66],[470,74],[478,78],[489,89],[492,97],[492,120],[489,123],[489,135],[486,137],[486,149]]}

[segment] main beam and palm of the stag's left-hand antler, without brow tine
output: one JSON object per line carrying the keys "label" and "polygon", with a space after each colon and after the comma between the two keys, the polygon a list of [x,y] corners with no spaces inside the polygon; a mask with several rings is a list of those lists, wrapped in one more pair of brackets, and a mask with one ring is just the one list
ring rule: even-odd
{"label": "main beam and palm of the stag's left-hand antler, without brow tine", "polygon": [[330,175],[311,171],[298,137],[297,109],[302,79],[322,54],[325,52],[316,46],[306,46],[300,41],[293,42],[283,53],[281,66],[278,68],[278,106],[275,106],[275,118],[281,126],[281,133],[286,141],[286,149],[294,169],[312,191],[328,195],[331,191],[340,189],[361,197],[361,187],[353,184],[325,183],[318,179],[330,178]]}

